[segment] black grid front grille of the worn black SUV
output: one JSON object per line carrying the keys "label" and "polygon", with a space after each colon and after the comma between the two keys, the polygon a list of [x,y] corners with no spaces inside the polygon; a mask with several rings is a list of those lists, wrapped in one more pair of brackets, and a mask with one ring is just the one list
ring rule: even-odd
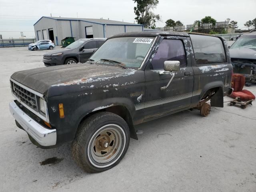
{"label": "black grid front grille of the worn black SUV", "polygon": [[20,99],[24,104],[29,106],[31,109],[38,112],[38,106],[36,104],[36,95],[28,90],[22,88],[16,83],[12,82],[12,92],[13,94]]}

